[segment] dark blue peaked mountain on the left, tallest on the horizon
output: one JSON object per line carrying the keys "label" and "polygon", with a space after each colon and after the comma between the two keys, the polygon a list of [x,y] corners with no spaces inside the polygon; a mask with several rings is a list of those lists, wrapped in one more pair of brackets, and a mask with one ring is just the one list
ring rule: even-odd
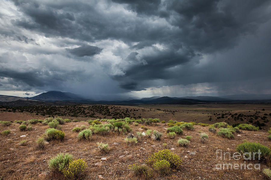
{"label": "dark blue peaked mountain on the left, tallest on the horizon", "polygon": [[80,101],[84,98],[70,92],[48,91],[29,99],[39,101]]}

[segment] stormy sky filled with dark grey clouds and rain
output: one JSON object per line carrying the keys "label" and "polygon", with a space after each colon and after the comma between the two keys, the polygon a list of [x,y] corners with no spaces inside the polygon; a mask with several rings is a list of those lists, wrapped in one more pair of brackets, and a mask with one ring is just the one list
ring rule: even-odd
{"label": "stormy sky filled with dark grey clouds and rain", "polygon": [[271,1],[0,0],[0,94],[271,94]]}

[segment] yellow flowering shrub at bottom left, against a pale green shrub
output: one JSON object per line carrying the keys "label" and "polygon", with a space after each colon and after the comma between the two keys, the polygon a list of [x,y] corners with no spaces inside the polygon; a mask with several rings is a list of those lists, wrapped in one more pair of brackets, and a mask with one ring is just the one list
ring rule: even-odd
{"label": "yellow flowering shrub at bottom left, against a pale green shrub", "polygon": [[86,170],[86,162],[83,159],[77,159],[69,163],[68,167],[62,170],[67,179],[79,179]]}

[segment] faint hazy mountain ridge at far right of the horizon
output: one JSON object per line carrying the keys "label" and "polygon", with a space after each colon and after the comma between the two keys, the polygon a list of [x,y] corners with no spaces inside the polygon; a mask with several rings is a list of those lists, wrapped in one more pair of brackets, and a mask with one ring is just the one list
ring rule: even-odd
{"label": "faint hazy mountain ridge at far right of the horizon", "polygon": [[268,100],[271,99],[271,94],[243,94],[243,95],[226,95],[220,98],[229,98],[234,100]]}

